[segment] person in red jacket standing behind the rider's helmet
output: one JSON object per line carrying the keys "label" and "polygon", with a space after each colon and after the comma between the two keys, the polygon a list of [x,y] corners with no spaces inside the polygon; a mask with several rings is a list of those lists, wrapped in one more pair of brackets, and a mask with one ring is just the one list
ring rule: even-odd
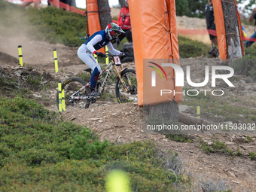
{"label": "person in red jacket standing behind the rider's helmet", "polygon": [[119,16],[118,16],[118,26],[123,29],[125,34],[120,34],[118,37],[117,44],[120,44],[120,41],[123,40],[123,38],[127,38],[129,42],[133,42],[133,37],[132,37],[132,26],[131,26],[131,21],[130,21],[130,12],[129,12],[129,6],[128,2],[125,2],[125,5],[123,8],[121,8]]}

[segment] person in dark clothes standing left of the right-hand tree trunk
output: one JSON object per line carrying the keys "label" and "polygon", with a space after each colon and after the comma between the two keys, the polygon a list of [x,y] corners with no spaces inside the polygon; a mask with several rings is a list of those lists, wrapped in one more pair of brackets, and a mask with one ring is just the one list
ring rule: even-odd
{"label": "person in dark clothes standing left of the right-hand tree trunk", "polygon": [[[216,26],[215,26],[215,15],[213,12],[213,6],[212,6],[212,0],[208,0],[208,4],[206,5],[206,26],[207,29],[215,30],[216,31]],[[215,35],[210,34],[209,32],[210,39],[212,41],[212,50],[209,50],[208,53],[213,56],[217,57],[218,56],[218,39]],[[213,44],[215,47],[213,47]]]}

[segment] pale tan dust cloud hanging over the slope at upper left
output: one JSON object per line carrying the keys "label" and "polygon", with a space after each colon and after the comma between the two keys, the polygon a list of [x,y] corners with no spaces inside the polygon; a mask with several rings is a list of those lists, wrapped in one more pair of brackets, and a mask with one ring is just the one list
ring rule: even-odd
{"label": "pale tan dust cloud hanging over the slope at upper left", "polygon": [[26,11],[16,6],[0,12],[0,52],[18,58],[17,46],[22,45],[24,63],[41,66],[49,64],[53,61],[53,49],[58,46],[38,41],[36,37],[42,37],[39,29],[29,24]]}

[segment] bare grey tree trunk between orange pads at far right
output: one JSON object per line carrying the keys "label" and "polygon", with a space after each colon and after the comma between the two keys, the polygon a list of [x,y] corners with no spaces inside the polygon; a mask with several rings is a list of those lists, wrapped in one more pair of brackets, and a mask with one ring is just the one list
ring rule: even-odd
{"label": "bare grey tree trunk between orange pads at far right", "polygon": [[[227,59],[232,61],[242,56],[242,47],[239,38],[239,23],[236,15],[236,6],[234,5],[235,1],[226,1],[222,1],[222,8],[227,39]],[[229,65],[231,66],[232,62],[229,62]]]}

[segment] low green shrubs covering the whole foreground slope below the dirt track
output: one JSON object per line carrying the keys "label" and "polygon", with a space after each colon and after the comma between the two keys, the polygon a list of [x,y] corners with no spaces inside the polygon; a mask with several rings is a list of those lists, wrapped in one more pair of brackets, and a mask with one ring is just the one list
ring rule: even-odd
{"label": "low green shrubs covering the whole foreground slope below the dirt track", "polygon": [[99,142],[87,127],[29,99],[0,99],[0,141],[1,191],[105,191],[112,169],[128,173],[133,191],[175,191],[172,184],[184,182],[166,169],[177,154],[153,142]]}

